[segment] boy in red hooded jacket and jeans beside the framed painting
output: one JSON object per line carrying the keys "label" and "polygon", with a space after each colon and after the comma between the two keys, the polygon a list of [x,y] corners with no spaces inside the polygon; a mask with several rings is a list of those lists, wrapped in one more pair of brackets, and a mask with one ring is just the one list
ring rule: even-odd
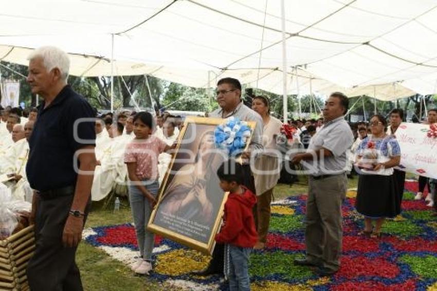
{"label": "boy in red hooded jacket and jeans beside the framed painting", "polygon": [[215,236],[215,241],[225,243],[225,276],[229,278],[229,290],[250,290],[249,256],[257,243],[252,208],[257,197],[241,185],[242,166],[232,159],[225,161],[217,170],[220,187],[229,192],[225,204],[225,225]]}

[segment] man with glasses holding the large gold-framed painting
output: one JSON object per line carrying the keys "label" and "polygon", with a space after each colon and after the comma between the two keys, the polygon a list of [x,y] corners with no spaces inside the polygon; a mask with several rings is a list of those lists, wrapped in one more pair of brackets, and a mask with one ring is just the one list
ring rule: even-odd
{"label": "man with glasses holding the large gold-framed painting", "polygon": [[[250,171],[249,158],[256,154],[257,151],[263,149],[262,135],[263,135],[263,120],[261,116],[243,104],[241,101],[241,84],[240,81],[233,78],[224,78],[217,83],[217,102],[220,108],[211,112],[209,117],[228,118],[236,117],[244,121],[256,122],[252,133],[252,138],[249,144],[249,150],[242,153],[243,158],[243,183],[255,194],[255,185],[253,183],[253,176]],[[193,271],[193,275],[208,276],[212,274],[223,275],[224,264],[224,245],[216,243],[212,253],[212,259],[206,269],[201,271]]]}

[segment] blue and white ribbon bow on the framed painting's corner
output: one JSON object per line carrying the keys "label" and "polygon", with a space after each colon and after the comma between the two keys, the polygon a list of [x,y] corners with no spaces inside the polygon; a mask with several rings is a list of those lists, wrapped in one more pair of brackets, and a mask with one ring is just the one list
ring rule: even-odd
{"label": "blue and white ribbon bow on the framed painting's corner", "polygon": [[237,155],[246,147],[251,130],[245,121],[229,117],[214,130],[215,147],[227,150],[230,156]]}

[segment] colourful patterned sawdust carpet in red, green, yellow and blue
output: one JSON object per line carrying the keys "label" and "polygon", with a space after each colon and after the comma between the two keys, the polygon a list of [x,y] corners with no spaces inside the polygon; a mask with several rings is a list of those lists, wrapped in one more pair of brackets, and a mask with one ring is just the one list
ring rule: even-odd
{"label": "colourful patterned sawdust carpet in red, green, yellow and blue", "polygon": [[[268,243],[250,257],[252,290],[437,290],[437,220],[425,201],[414,201],[416,183],[406,183],[403,215],[406,221],[387,221],[381,239],[358,237],[362,217],[355,198],[343,204],[344,237],[341,268],[331,278],[319,278],[311,269],[293,265],[305,252],[306,196],[290,197],[272,206]],[[85,231],[85,240],[126,264],[138,255],[131,224]],[[151,277],[187,289],[225,289],[218,276],[193,277],[208,257],[167,239],[156,238],[155,268]]]}

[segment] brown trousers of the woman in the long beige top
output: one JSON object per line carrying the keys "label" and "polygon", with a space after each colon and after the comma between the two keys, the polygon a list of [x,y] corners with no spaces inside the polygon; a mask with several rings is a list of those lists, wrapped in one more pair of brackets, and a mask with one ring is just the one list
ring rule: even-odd
{"label": "brown trousers of the woman in the long beige top", "polygon": [[258,231],[258,241],[267,242],[267,232],[270,225],[270,203],[273,189],[265,191],[257,196],[257,204],[253,207],[253,217]]}

